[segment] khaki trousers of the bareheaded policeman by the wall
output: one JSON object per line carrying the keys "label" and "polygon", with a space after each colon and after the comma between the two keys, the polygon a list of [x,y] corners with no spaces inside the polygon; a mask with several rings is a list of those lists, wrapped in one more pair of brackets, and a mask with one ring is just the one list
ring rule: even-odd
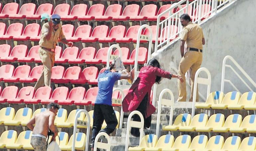
{"label": "khaki trousers of the bareheaded policeman by the wall", "polygon": [[[186,82],[185,82],[185,73],[191,68],[191,94],[189,101],[193,100],[193,88],[194,88],[194,80],[196,71],[200,68],[203,60],[203,53],[198,51],[187,51],[185,55],[182,57],[181,62],[179,63],[179,71],[178,74],[181,75],[184,82],[181,83],[178,80],[178,91],[179,91],[179,98],[177,101],[185,102],[187,100],[187,91],[186,91]],[[199,100],[198,96],[198,89],[196,92],[196,101]]]}

